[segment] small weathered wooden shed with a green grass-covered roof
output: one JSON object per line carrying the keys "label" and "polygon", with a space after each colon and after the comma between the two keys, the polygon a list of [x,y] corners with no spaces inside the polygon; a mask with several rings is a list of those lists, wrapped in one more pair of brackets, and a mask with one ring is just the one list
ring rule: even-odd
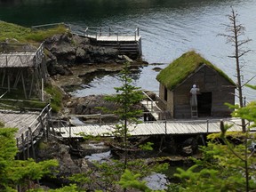
{"label": "small weathered wooden shed with a green grass-covered roof", "polygon": [[[156,76],[160,83],[158,105],[171,118],[227,117],[235,104],[236,84],[220,68],[200,54],[186,52]],[[191,105],[192,86],[196,84],[196,108]]]}

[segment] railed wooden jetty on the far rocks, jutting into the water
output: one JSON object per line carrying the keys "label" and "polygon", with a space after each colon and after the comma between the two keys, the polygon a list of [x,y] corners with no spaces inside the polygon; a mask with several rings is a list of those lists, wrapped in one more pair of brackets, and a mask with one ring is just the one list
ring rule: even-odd
{"label": "railed wooden jetty on the far rocks, jutting into the water", "polygon": [[67,24],[52,23],[32,28],[49,28],[52,26],[64,25],[72,34],[84,36],[91,39],[91,43],[115,48],[119,54],[128,55],[131,58],[138,58],[142,55],[141,36],[139,28],[117,28],[117,27],[86,27]]}

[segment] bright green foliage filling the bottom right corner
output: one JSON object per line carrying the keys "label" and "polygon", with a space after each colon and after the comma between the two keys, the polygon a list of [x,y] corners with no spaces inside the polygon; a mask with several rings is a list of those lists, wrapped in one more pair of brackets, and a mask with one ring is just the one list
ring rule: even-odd
{"label": "bright green foliage filling the bottom right corner", "polygon": [[[237,154],[244,156],[244,146],[233,146]],[[196,164],[188,170],[177,169],[175,176],[182,180],[180,191],[244,191],[244,161],[237,158],[227,145],[209,142],[202,148],[202,160],[196,160]],[[252,157],[249,167],[254,164],[256,158]],[[256,171],[250,168],[251,175]],[[253,178],[250,187],[256,187]]]}

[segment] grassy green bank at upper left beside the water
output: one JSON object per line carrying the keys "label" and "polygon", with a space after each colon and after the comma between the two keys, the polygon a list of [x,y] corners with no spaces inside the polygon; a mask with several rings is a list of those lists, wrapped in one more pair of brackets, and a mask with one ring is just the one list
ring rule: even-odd
{"label": "grassy green bank at upper left beside the water", "polygon": [[33,30],[31,28],[24,28],[16,24],[0,21],[0,31],[0,42],[5,41],[5,39],[17,39],[20,43],[41,43],[47,37],[67,33],[67,28],[63,25],[59,25],[55,28],[45,30]]}

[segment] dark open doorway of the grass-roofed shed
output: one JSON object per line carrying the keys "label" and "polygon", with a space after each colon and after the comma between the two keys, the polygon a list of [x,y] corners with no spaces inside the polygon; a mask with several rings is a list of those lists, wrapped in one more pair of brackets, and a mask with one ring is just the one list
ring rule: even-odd
{"label": "dark open doorway of the grass-roofed shed", "polygon": [[197,95],[198,116],[212,116],[212,92],[201,92]]}

